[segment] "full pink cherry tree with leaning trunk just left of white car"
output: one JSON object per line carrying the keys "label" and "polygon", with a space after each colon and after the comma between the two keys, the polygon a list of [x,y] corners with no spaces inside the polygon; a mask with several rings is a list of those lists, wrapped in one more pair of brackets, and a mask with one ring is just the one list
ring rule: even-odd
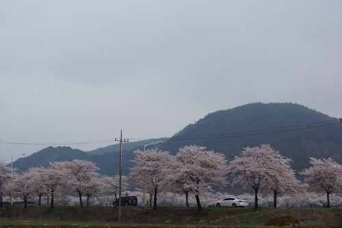
{"label": "full pink cherry tree with leaning trunk just left of white car", "polygon": [[[211,190],[211,186],[226,186],[227,165],[222,153],[205,151],[206,147],[185,146],[174,156],[176,160],[172,166],[170,179],[178,183],[183,191],[195,195],[198,210],[200,194]],[[185,194],[187,197],[187,194]]]}

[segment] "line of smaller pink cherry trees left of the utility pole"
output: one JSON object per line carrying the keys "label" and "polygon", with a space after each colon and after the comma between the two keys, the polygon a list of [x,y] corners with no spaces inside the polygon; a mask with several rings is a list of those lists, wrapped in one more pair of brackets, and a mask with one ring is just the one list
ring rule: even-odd
{"label": "line of smaller pink cherry trees left of the utility pole", "polygon": [[[21,197],[25,207],[27,200],[38,196],[40,205],[43,195],[50,197],[51,208],[54,207],[55,192],[61,194],[76,193],[79,196],[79,204],[83,207],[82,196],[86,196],[87,205],[90,197],[101,194],[114,194],[117,197],[119,177],[100,175],[96,171],[99,168],[92,162],[85,160],[73,160],[73,162],[50,162],[48,168],[29,168],[21,175],[11,174],[10,168],[0,164],[0,205],[3,205],[3,197],[14,194]],[[127,188],[127,178],[123,177],[122,188]],[[11,196],[13,197],[13,196]]]}

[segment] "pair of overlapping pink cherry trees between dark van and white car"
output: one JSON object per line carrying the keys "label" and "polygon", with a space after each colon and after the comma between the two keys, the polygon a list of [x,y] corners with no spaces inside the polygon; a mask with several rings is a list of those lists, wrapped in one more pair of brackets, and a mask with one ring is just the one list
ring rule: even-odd
{"label": "pair of overlapping pink cherry trees between dark van and white car", "polygon": [[198,210],[202,210],[200,194],[211,190],[211,186],[226,186],[228,183],[224,155],[205,151],[205,147],[186,146],[175,156],[158,149],[136,150],[134,153],[132,162],[135,166],[130,178],[153,194],[154,209],[157,209],[157,192],[174,189],[184,192],[187,205],[188,194],[193,193]]}

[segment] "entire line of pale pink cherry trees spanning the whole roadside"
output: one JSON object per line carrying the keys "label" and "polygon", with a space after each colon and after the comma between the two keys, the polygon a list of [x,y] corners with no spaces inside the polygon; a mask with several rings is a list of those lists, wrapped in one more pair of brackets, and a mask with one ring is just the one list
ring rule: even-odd
{"label": "entire line of pale pink cherry trees spanning the whole roadside", "polygon": [[[131,187],[146,191],[150,195],[150,203],[157,209],[159,192],[178,192],[185,195],[189,206],[189,196],[194,196],[198,210],[202,210],[200,197],[213,191],[213,186],[224,187],[228,184],[228,175],[233,176],[232,186],[252,188],[254,190],[254,207],[259,207],[259,193],[272,195],[273,205],[277,206],[277,197],[285,196],[308,198],[304,193],[310,190],[326,193],[326,201],[330,207],[330,194],[341,194],[342,166],[331,158],[317,160],[311,158],[311,168],[303,170],[305,182],[300,183],[291,169],[289,158],[274,151],[268,144],[261,147],[247,147],[234,160],[227,162],[222,153],[207,151],[205,147],[186,146],[172,156],[167,151],[150,149],[136,150],[135,166],[131,168],[129,177],[123,177],[122,190]],[[29,168],[21,175],[11,175],[10,168],[0,163],[0,203],[3,197],[11,192],[27,200],[38,195],[39,205],[43,195],[49,196],[51,207],[54,206],[55,194],[67,195],[76,193],[79,204],[83,207],[82,196],[87,205],[94,197],[114,195],[118,197],[118,175],[107,177],[97,173],[95,164],[88,161],[51,162],[48,168]],[[154,199],[152,200],[152,198]],[[267,197],[268,198],[268,197]]]}

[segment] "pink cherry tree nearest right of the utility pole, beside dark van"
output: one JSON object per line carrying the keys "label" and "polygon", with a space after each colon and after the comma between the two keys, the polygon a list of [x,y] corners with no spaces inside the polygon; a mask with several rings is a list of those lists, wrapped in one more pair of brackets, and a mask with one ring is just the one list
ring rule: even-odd
{"label": "pink cherry tree nearest right of the utility pole, beside dark van", "polygon": [[153,186],[153,209],[157,209],[157,191],[167,185],[168,167],[171,164],[171,156],[168,151],[149,149],[147,151],[135,150],[135,166],[131,168],[130,178],[140,186]]}

